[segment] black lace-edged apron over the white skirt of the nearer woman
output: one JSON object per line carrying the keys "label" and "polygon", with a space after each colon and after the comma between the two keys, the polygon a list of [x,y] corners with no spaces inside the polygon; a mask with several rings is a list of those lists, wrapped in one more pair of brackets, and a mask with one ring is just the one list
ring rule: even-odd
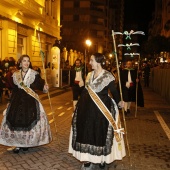
{"label": "black lace-edged apron over the white skirt of the nearer woman", "polygon": [[[107,89],[97,93],[112,116],[115,115],[114,104],[108,96]],[[76,151],[92,155],[108,155],[113,145],[113,128],[108,120],[84,89],[77,103],[72,120],[72,147]]]}

